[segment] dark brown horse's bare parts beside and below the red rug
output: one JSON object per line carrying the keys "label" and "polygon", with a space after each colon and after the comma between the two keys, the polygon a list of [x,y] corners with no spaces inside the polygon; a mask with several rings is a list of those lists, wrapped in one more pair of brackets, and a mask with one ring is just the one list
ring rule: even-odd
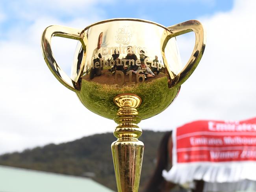
{"label": "dark brown horse's bare parts beside and below the red rug", "polygon": [[[167,170],[172,167],[172,131],[165,133],[163,136],[160,146],[158,148],[158,158],[156,163],[156,168],[152,177],[144,190],[144,192],[185,192],[186,190],[182,187],[177,186],[175,183],[165,181],[162,176],[163,170]],[[204,188],[204,181],[195,181],[195,189],[192,192],[202,192]]]}

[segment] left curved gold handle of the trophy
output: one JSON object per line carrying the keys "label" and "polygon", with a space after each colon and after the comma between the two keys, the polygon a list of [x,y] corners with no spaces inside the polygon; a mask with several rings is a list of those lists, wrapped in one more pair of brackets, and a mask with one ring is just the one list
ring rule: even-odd
{"label": "left curved gold handle of the trophy", "polygon": [[[65,74],[65,72],[63,72],[63,70],[61,70],[61,68],[59,68],[58,64],[56,63],[56,60],[54,59],[54,56],[52,54],[52,49],[51,49],[51,39],[54,36],[65,37],[68,39],[75,39],[82,43],[83,50],[84,50],[83,59],[81,62],[80,70],[78,72],[78,76],[74,80],[72,80],[67,74]],[[74,92],[79,92],[81,88],[80,84],[81,84],[81,78],[83,75],[83,69],[85,66],[85,58],[87,54],[87,51],[86,51],[87,37],[84,31],[80,29],[65,27],[65,26],[57,26],[57,25],[49,26],[43,32],[41,46],[42,46],[45,62],[49,67],[50,71],[52,72],[52,74],[65,87],[69,88]]]}

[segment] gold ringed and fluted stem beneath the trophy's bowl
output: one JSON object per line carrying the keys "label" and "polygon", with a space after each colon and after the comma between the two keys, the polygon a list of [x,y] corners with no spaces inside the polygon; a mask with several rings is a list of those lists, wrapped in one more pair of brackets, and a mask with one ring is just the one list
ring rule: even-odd
{"label": "gold ringed and fluted stem beneath the trophy's bowl", "polygon": [[118,124],[113,134],[112,155],[118,192],[137,192],[141,175],[144,144],[138,138],[142,134],[137,124],[141,121],[136,107],[141,98],[135,94],[120,94],[114,98],[119,107],[114,121]]}

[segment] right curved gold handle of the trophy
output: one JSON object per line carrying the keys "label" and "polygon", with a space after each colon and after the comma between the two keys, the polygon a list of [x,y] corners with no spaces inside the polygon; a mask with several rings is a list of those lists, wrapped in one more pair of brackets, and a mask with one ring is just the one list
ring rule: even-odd
{"label": "right curved gold handle of the trophy", "polygon": [[204,33],[204,28],[202,24],[198,20],[188,20],[186,22],[170,26],[168,27],[168,29],[170,30],[171,34],[168,35],[167,41],[165,41],[165,43],[163,44],[163,52],[167,42],[172,37],[189,33],[191,31],[195,32],[195,47],[191,57],[189,58],[189,61],[187,62],[187,65],[182,69],[182,71],[177,76],[173,77],[170,82],[171,87],[180,86],[194,72],[199,61],[201,60],[201,57],[204,53],[206,35]]}

